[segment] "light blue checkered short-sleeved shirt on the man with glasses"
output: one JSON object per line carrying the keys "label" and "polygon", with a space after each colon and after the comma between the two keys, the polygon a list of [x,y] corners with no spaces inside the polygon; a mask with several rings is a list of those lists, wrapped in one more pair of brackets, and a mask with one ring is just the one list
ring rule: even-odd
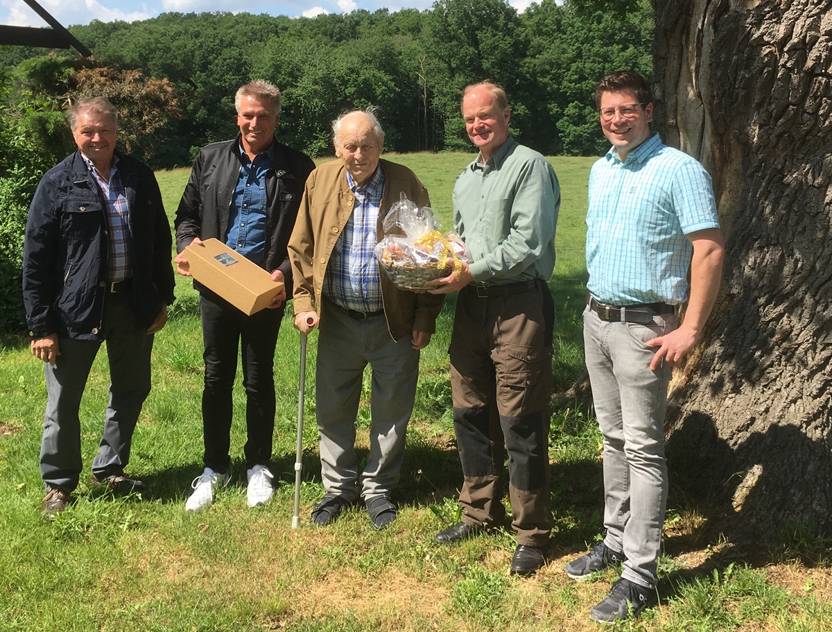
{"label": "light blue checkered short-sleeved shirt on the man with glasses", "polygon": [[693,254],[686,235],[719,226],[699,162],[658,134],[624,162],[612,148],[589,176],[587,289],[608,305],[683,303]]}

